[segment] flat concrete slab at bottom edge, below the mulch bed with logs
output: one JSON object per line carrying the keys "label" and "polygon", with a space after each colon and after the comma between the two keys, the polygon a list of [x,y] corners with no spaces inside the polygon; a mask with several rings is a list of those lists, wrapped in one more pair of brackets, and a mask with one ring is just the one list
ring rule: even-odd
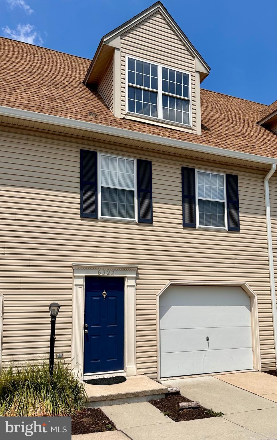
{"label": "flat concrete slab at bottom edge, below the mulch bed with logs", "polygon": [[123,429],[133,440],[265,440],[266,437],[222,418],[163,423]]}

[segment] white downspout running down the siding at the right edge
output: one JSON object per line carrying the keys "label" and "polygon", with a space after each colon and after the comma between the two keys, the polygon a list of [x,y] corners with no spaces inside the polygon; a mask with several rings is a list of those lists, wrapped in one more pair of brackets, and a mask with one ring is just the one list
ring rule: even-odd
{"label": "white downspout running down the siding at the right edge", "polygon": [[277,367],[277,308],[276,308],[275,277],[274,277],[273,248],[272,248],[272,235],[271,235],[270,194],[269,194],[269,180],[270,177],[275,172],[275,170],[276,170],[276,164],[272,164],[270,172],[268,172],[266,174],[266,177],[264,178],[264,188],[265,188],[265,203],[266,203],[266,234],[267,234],[267,249],[268,249],[268,260],[269,260],[270,295],[271,295],[273,335],[274,335],[274,348],[275,348],[275,366]]}

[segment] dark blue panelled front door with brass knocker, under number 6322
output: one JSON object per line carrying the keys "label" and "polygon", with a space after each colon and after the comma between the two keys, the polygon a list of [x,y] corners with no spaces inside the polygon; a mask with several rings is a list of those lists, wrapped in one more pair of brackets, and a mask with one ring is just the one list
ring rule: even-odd
{"label": "dark blue panelled front door with brass knocker, under number 6322", "polygon": [[84,330],[84,373],[123,370],[124,278],[86,277]]}

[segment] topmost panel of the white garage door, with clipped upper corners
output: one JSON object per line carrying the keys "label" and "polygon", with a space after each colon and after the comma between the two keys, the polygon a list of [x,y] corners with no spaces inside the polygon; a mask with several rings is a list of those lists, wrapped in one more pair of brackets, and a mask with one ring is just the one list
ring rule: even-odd
{"label": "topmost panel of the white garage door, with clipped upper corners", "polygon": [[211,306],[249,306],[249,297],[238,286],[170,286],[160,297],[162,306],[184,305]]}

